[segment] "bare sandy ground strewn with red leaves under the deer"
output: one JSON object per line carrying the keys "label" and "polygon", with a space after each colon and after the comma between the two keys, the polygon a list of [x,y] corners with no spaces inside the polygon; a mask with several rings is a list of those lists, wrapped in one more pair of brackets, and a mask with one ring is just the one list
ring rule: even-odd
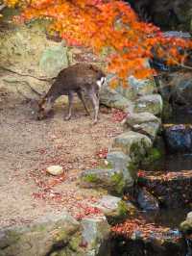
{"label": "bare sandy ground strewn with red leaves under the deer", "polygon": [[[79,102],[72,119],[65,121],[64,105],[56,104],[54,116],[37,121],[30,104],[0,91],[0,227],[65,210],[81,218],[105,193],[80,188],[78,178],[85,168],[97,166],[98,152],[108,148],[122,127],[107,109],[101,109],[93,126]],[[53,165],[62,166],[64,174],[48,174],[46,167]]]}

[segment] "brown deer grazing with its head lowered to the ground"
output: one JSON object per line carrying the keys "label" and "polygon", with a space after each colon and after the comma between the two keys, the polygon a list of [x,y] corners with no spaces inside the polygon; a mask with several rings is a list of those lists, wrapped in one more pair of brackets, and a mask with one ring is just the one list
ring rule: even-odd
{"label": "brown deer grazing with its head lowered to the ground", "polygon": [[93,124],[96,124],[99,113],[99,92],[105,82],[105,73],[93,64],[73,64],[62,69],[51,88],[38,101],[37,119],[41,120],[47,117],[53,109],[56,99],[61,95],[67,95],[68,115],[65,116],[65,120],[69,120],[72,115],[74,93],[77,93],[87,115],[90,113],[86,107],[84,94],[90,99],[94,109]]}

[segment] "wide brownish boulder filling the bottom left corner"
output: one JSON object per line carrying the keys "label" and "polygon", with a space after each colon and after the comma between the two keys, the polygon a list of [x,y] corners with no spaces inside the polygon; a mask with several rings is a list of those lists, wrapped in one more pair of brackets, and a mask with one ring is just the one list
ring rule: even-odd
{"label": "wide brownish boulder filling the bottom left corner", "polygon": [[49,215],[30,226],[1,230],[0,255],[45,256],[57,248],[63,253],[70,251],[69,255],[79,255],[69,245],[72,238],[79,237],[79,232],[80,223],[68,214]]}

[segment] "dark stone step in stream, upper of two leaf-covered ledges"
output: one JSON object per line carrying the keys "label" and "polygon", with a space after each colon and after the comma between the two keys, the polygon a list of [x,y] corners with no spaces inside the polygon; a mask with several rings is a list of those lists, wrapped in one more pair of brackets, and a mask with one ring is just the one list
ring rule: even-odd
{"label": "dark stone step in stream, upper of two leaf-covered ledges", "polygon": [[156,196],[162,206],[177,208],[192,203],[192,170],[138,171],[138,185]]}

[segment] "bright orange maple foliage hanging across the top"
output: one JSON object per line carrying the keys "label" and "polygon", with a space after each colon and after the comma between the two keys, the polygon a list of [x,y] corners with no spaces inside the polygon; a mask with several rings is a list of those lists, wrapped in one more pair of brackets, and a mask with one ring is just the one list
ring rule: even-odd
{"label": "bright orange maple foliage hanging across the top", "polygon": [[[69,45],[84,45],[95,54],[106,53],[108,71],[120,78],[146,78],[156,71],[146,65],[152,52],[169,65],[185,62],[192,40],[165,38],[159,28],[141,22],[131,6],[123,1],[108,0],[4,0],[9,7],[20,6],[17,21],[50,19],[50,32],[58,32]],[[115,77],[115,76],[114,76]],[[111,86],[117,84],[116,78]]]}

